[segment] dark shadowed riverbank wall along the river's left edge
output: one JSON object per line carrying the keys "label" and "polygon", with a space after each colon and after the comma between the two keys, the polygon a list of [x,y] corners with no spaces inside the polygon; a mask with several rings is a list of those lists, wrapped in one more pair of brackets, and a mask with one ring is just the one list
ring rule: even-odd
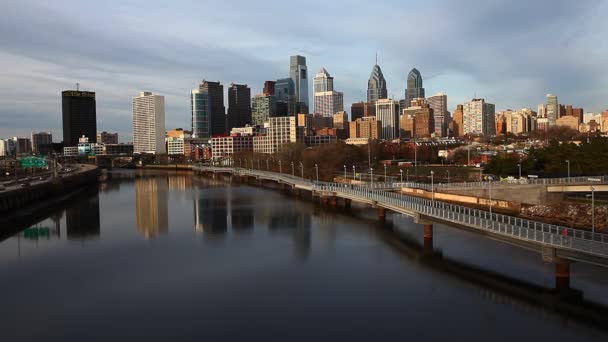
{"label": "dark shadowed riverbank wall along the river's left edge", "polygon": [[[100,170],[93,165],[80,165],[73,173],[44,182],[28,183],[29,185],[0,192],[0,215],[8,220],[23,210],[37,210],[45,204],[84,188],[97,184]],[[37,208],[37,209],[34,209]]]}

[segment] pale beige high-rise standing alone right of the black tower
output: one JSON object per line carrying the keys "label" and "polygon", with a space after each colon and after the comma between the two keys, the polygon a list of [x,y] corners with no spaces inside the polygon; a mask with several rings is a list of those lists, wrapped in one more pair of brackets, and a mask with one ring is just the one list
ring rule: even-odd
{"label": "pale beige high-rise standing alone right of the black tower", "polygon": [[166,153],[164,96],[142,91],[133,98],[133,152]]}

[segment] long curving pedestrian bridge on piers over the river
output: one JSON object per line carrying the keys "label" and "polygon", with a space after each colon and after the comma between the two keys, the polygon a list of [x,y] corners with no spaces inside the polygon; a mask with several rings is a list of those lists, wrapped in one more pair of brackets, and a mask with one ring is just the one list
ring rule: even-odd
{"label": "long curving pedestrian bridge on piers over the river", "polygon": [[[511,245],[538,252],[546,262],[555,264],[556,285],[569,288],[570,263],[584,262],[608,267],[608,234],[572,229],[515,216],[455,205],[434,198],[425,199],[395,193],[388,183],[356,186],[343,183],[315,182],[295,175],[232,167],[195,165],[196,173],[227,174],[240,178],[271,181],[290,187],[297,194],[310,191],[323,203],[336,205],[338,198],[349,207],[351,201],[378,209],[380,220],[385,210],[412,217],[424,226],[425,248],[432,251],[433,222],[476,232]],[[377,186],[377,188],[375,188]],[[397,184],[395,186],[402,186]]]}

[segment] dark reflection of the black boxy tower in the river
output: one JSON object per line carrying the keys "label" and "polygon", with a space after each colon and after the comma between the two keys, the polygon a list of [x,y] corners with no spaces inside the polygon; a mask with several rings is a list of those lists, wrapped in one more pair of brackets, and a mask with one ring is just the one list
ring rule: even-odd
{"label": "dark reflection of the black boxy tower in the river", "polygon": [[99,237],[99,190],[93,195],[78,200],[65,210],[66,236],[69,240],[82,240]]}

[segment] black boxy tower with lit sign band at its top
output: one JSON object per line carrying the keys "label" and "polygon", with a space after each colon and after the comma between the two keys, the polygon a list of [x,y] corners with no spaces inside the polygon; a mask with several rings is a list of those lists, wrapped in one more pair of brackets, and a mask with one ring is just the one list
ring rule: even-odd
{"label": "black boxy tower with lit sign band at its top", "polygon": [[63,107],[63,145],[78,146],[83,135],[90,142],[97,139],[95,92],[66,90],[61,92]]}

